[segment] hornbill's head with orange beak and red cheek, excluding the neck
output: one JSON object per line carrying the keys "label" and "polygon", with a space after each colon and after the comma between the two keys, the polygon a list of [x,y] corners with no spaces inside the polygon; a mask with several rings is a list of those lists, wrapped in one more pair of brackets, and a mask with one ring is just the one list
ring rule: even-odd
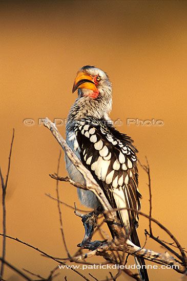
{"label": "hornbill's head with orange beak and red cheek, excluding the neck", "polygon": [[79,97],[90,99],[112,97],[112,85],[107,74],[95,66],[86,65],[78,71],[72,92],[76,89]]}

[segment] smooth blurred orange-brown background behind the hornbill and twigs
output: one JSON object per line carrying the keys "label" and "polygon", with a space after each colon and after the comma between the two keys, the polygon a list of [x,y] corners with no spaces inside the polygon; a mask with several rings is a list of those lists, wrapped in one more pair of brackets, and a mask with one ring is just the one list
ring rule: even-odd
{"label": "smooth blurred orange-brown background behind the hornbill and twigs", "polygon": [[[135,140],[139,159],[151,168],[153,217],[186,246],[186,86],[187,3],[179,1],[1,1],[1,168],[6,178],[15,128],[7,190],[7,235],[56,257],[67,257],[56,201],[60,147],[39,119],[65,121],[76,99],[72,95],[78,69],[91,64],[106,71],[113,84],[112,120]],[[127,126],[127,119],[161,120],[162,126]],[[32,119],[32,125],[24,120]],[[58,127],[65,137],[65,126]],[[147,175],[139,167],[142,212],[149,213]],[[60,175],[66,176],[64,152]],[[80,205],[76,188],[60,183],[60,199]],[[84,236],[81,220],[61,206],[71,254]],[[2,218],[2,207],[1,207]],[[141,244],[147,219],[140,217]],[[107,228],[105,228],[107,229]],[[158,227],[155,236],[171,239]],[[1,233],[2,233],[1,220]],[[97,237],[96,237],[97,238]],[[0,239],[2,249],[2,237]],[[147,248],[165,251],[148,239]],[[1,253],[2,255],[2,253]],[[47,277],[57,263],[7,239],[6,260]],[[89,262],[102,262],[101,257]],[[134,264],[133,259],[130,263]],[[152,264],[148,262],[147,264]],[[55,280],[82,280],[71,270],[58,270]],[[80,270],[105,279],[108,270]],[[112,271],[115,273],[115,271]],[[28,274],[28,273],[27,273]],[[150,280],[178,280],[171,269],[150,269]],[[32,276],[31,276],[32,277]],[[5,267],[4,278],[23,280]],[[132,280],[122,274],[118,279]]]}

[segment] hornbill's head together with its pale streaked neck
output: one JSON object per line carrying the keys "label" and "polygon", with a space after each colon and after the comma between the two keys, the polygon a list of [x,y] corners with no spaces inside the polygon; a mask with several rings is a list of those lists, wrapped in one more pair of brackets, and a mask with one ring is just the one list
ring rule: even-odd
{"label": "hornbill's head together with its pale streaked neck", "polygon": [[112,85],[107,74],[95,66],[82,67],[74,81],[73,90],[78,89],[78,99],[71,107],[69,119],[82,119],[92,116],[109,119],[112,108]]}

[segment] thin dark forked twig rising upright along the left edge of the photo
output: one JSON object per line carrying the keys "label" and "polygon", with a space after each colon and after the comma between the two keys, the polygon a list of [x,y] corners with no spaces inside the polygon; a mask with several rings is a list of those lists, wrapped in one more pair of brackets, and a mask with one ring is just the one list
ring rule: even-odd
{"label": "thin dark forked twig rising upright along the left edge of the photo", "polygon": [[14,129],[13,129],[13,135],[12,135],[12,142],[10,146],[10,153],[9,153],[9,162],[8,162],[8,172],[7,172],[7,178],[6,183],[4,183],[1,167],[0,167],[0,175],[1,175],[1,181],[2,181],[2,204],[3,204],[3,254],[2,254],[2,265],[1,265],[1,273],[0,273],[0,280],[3,278],[4,273],[4,259],[5,259],[5,252],[6,252],[6,192],[7,192],[7,184],[8,184],[8,177],[10,173],[10,160],[11,160],[11,154],[12,154],[12,146],[14,141]]}

